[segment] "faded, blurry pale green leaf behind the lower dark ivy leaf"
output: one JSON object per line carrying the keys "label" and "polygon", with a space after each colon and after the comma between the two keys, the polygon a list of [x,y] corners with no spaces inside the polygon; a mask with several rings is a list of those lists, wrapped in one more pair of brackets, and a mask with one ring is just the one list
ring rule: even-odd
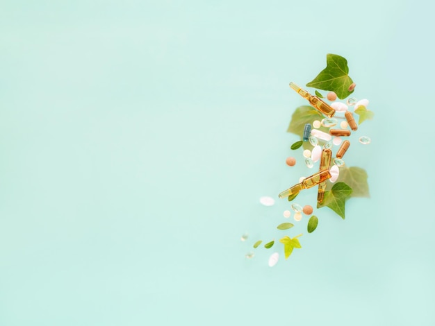
{"label": "faded, blurry pale green leaf behind the lower dark ivy leaf", "polygon": [[[340,175],[336,182],[345,182],[346,185],[352,188],[351,197],[370,197],[368,191],[367,172],[358,166],[341,166]],[[326,190],[330,190],[333,184],[327,182]]]}

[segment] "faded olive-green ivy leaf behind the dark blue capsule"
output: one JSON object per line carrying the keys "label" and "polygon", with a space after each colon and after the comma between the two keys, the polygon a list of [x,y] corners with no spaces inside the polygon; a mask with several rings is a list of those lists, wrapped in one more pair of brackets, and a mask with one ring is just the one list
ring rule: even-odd
{"label": "faded olive-green ivy leaf behind the dark blue capsule", "polygon": [[[295,112],[292,114],[292,119],[288,125],[287,132],[298,135],[302,139],[302,136],[304,135],[305,124],[311,123],[312,126],[315,120],[321,121],[322,119],[323,115],[318,112],[318,110],[315,110],[315,108],[312,106],[299,106],[299,108],[296,108]],[[321,126],[319,130],[329,132],[329,128],[325,128],[323,126]],[[303,141],[302,143],[304,149],[313,149],[313,146],[311,146],[309,141]]]}

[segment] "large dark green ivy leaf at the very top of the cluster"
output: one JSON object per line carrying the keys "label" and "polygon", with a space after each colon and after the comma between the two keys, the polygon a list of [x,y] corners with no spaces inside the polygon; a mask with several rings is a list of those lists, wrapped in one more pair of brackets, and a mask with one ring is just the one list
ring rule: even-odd
{"label": "large dark green ivy leaf at the very top of the cluster", "polygon": [[349,92],[352,83],[347,60],[340,55],[328,53],[327,67],[306,86],[335,92],[338,98],[343,99],[354,92]]}

